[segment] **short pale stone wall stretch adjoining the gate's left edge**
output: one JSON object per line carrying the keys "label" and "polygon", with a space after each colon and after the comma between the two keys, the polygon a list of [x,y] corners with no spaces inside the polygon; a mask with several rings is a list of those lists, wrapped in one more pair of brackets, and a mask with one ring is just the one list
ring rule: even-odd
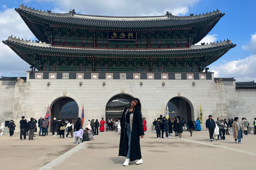
{"label": "short pale stone wall stretch adjoining the gate's left edge", "polygon": [[12,119],[14,90],[15,86],[2,86],[0,81],[0,124]]}

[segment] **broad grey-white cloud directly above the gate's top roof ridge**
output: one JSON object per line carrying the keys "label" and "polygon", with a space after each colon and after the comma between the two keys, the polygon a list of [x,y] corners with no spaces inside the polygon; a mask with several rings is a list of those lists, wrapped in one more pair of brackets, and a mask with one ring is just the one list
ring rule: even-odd
{"label": "broad grey-white cloud directly above the gate's top roof ridge", "polygon": [[[185,15],[188,7],[196,5],[200,0],[27,0],[52,2],[59,11],[68,13],[70,8],[88,15],[110,16],[157,16],[171,11],[173,15]],[[57,12],[58,10],[53,10]],[[198,11],[200,13],[201,11]],[[196,13],[196,12],[195,12]]]}

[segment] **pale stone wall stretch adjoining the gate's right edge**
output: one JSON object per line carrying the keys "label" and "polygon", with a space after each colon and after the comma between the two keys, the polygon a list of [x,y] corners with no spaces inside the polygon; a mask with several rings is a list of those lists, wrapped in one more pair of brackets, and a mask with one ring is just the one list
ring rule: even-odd
{"label": "pale stone wall stretch adjoining the gate's right edge", "polygon": [[256,117],[256,89],[236,89],[236,86],[225,86],[227,117],[243,117],[250,122]]}

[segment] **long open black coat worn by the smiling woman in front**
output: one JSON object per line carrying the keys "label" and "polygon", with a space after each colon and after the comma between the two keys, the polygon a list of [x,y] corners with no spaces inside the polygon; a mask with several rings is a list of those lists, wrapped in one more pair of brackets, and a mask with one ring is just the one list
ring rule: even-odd
{"label": "long open black coat worn by the smiling woman in front", "polygon": [[[129,106],[126,106],[120,120],[121,125],[121,136],[119,143],[119,155],[118,156],[127,156],[128,153],[128,137],[126,133],[126,121],[125,113]],[[131,149],[130,149],[130,161],[141,159],[141,150],[140,150],[140,136],[144,135],[142,117],[140,113],[140,106],[136,108],[133,113],[132,121],[132,133],[131,133]]]}

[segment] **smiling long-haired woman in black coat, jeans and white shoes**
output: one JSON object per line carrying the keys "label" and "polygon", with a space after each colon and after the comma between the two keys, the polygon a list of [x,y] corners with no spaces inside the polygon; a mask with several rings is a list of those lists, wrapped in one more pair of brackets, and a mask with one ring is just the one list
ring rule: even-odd
{"label": "smiling long-haired woman in black coat, jeans and white shoes", "polygon": [[144,131],[139,99],[132,99],[131,104],[125,107],[120,124],[121,136],[118,156],[126,157],[124,166],[128,166],[129,161],[137,159],[136,164],[142,164],[140,137],[144,137]]}

